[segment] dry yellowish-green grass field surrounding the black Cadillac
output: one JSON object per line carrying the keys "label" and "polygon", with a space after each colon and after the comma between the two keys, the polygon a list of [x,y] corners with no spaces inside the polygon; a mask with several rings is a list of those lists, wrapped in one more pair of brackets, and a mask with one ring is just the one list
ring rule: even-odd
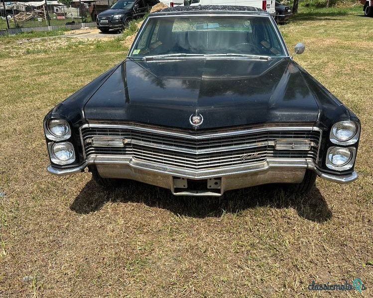
{"label": "dry yellowish-green grass field surrounding the black Cadillac", "polygon": [[[0,297],[372,297],[373,19],[301,14],[280,27],[295,60],[362,121],[360,179],[305,197],[257,187],[172,197],[140,183],[107,192],[55,177],[42,119],[122,61],[120,40],[0,38]],[[29,276],[29,281],[22,281]],[[316,283],[353,291],[310,292]]]}

